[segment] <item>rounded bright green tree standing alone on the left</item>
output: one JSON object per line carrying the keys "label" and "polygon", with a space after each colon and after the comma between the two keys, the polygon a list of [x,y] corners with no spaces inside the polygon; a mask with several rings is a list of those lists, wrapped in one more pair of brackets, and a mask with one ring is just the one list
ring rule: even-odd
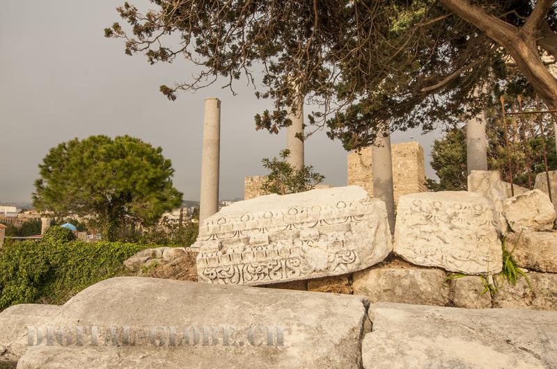
{"label": "rounded bright green tree standing alone on the left", "polygon": [[50,149],[39,167],[36,208],[91,215],[104,240],[114,240],[126,223],[155,224],[182,202],[171,161],[139,138],[75,138]]}

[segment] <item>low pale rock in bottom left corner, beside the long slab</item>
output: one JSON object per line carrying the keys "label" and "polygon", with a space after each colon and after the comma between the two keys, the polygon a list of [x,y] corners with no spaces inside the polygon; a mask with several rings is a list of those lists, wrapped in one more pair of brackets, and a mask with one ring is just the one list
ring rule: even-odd
{"label": "low pale rock in bottom left corner, beside the long slab", "polygon": [[60,306],[19,304],[0,313],[0,368],[17,363],[27,349],[27,327],[40,325],[60,312]]}

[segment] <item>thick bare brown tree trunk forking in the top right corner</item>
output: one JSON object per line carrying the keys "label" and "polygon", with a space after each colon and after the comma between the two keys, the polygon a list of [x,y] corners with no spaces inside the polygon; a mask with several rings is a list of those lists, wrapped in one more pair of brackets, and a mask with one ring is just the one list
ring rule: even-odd
{"label": "thick bare brown tree trunk forking in the top right corner", "polygon": [[[552,1],[538,0],[521,28],[485,13],[479,6],[472,6],[468,0],[441,0],[441,3],[505,48],[547,106],[557,108],[557,79],[542,62],[537,44],[537,35],[544,25]],[[550,38],[553,39],[547,36],[544,42]]]}

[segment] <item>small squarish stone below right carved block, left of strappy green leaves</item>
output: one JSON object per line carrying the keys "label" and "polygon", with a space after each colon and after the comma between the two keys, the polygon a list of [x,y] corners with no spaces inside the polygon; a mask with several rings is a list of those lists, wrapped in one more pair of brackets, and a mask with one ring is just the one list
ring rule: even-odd
{"label": "small squarish stone below right carved block, left of strappy green leaves", "polygon": [[484,286],[477,275],[450,280],[450,302],[454,306],[466,309],[489,309],[492,296],[489,292],[482,295]]}

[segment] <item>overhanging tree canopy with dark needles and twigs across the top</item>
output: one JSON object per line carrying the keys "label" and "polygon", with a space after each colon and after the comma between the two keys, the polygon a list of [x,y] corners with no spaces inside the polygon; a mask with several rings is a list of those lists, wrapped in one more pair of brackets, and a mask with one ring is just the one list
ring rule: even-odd
{"label": "overhanging tree canopy with dark needles and twigs across the top", "polygon": [[[557,107],[557,80],[540,52],[557,56],[557,6],[549,0],[151,0],[155,10],[118,8],[130,24],[105,35],[149,63],[185,58],[201,66],[190,81],[160,90],[202,88],[246,76],[274,109],[258,129],[288,126],[288,106],[320,106],[316,128],[347,149],[391,130],[451,122],[483,108],[492,91],[535,91]],[[509,81],[509,69],[517,69]],[[255,72],[262,73],[256,81]],[[466,108],[466,111],[465,111]]]}

